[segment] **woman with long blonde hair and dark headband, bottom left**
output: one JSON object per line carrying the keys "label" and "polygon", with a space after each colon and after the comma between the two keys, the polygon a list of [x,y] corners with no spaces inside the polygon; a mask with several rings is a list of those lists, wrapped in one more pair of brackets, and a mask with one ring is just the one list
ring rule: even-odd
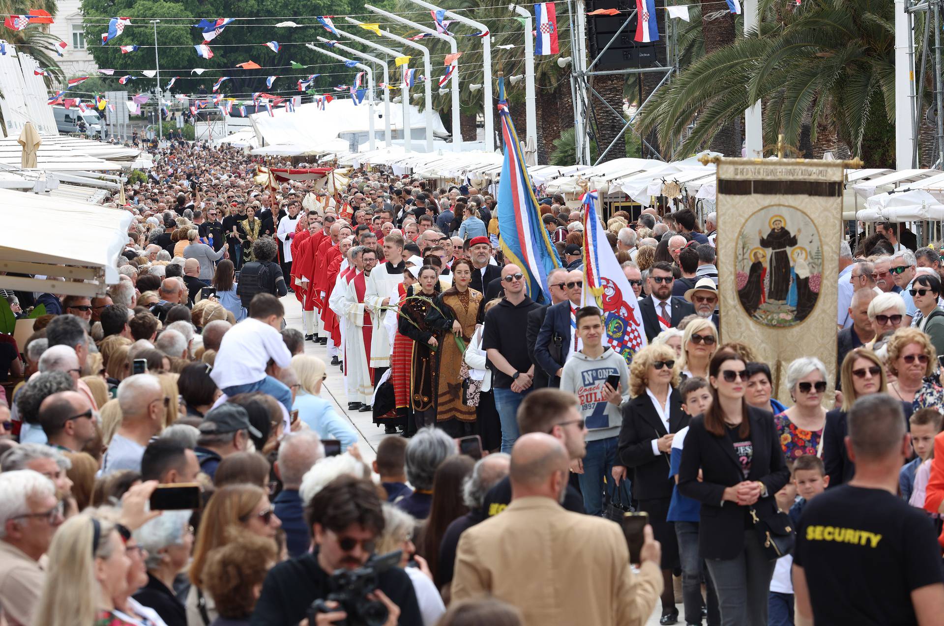
{"label": "woman with long blonde hair and dark headband, bottom left", "polygon": [[39,607],[42,626],[126,626],[112,598],[126,594],[131,558],[115,524],[78,515],[53,535]]}

